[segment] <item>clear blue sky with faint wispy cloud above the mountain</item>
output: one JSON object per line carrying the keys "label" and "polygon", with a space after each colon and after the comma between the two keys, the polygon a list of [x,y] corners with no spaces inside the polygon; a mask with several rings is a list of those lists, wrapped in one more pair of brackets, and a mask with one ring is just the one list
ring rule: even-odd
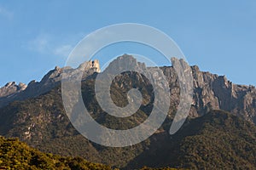
{"label": "clear blue sky with faint wispy cloud above the mountain", "polygon": [[202,71],[256,85],[254,0],[11,0],[0,1],[0,86],[39,81],[88,33],[124,22],[166,32]]}

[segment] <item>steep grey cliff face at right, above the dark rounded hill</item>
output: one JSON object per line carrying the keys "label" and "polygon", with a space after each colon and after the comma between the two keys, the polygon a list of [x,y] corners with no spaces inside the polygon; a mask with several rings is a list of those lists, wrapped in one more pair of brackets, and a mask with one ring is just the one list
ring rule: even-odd
{"label": "steep grey cliff face at right, above the dark rounded hill", "polygon": [[[162,70],[170,83],[171,105],[177,107],[177,74],[172,67],[162,67]],[[194,95],[190,116],[202,116],[208,111],[224,110],[256,123],[255,87],[234,84],[224,76],[200,71],[197,65],[191,66],[191,70],[194,78]]]}

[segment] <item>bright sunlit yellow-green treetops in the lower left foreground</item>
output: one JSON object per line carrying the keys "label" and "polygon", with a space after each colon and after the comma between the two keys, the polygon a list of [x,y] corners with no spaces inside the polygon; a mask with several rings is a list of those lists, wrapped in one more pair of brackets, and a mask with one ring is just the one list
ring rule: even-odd
{"label": "bright sunlit yellow-green treetops in the lower left foreground", "polygon": [[111,167],[85,161],[80,157],[44,154],[18,139],[0,137],[0,169],[79,169],[110,170]]}

